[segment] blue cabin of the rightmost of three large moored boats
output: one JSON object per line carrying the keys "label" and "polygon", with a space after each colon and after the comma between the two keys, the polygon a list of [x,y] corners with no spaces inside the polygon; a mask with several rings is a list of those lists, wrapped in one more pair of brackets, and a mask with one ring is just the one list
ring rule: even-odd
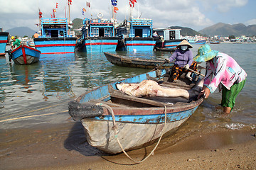
{"label": "blue cabin of the rightmost of three large moored boats", "polygon": [[117,35],[123,35],[124,38],[148,38],[153,34],[153,21],[145,18],[131,18],[130,21],[124,20],[117,26]]}

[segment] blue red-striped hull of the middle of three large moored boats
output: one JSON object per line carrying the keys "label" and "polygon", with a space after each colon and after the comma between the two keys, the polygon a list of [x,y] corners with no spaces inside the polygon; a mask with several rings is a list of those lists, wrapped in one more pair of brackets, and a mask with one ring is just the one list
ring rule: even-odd
{"label": "blue red-striped hull of the middle of three large moored boats", "polygon": [[114,52],[117,48],[117,37],[85,38],[76,47],[84,52]]}

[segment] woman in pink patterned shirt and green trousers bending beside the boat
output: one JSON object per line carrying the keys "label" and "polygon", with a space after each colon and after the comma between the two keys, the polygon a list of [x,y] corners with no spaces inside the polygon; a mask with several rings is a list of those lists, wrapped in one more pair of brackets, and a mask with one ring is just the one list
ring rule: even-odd
{"label": "woman in pink patterned shirt and green trousers bending beside the boat", "polygon": [[224,113],[230,113],[235,105],[235,98],[245,86],[247,77],[245,70],[232,57],[225,53],[211,50],[207,44],[199,47],[198,54],[193,60],[206,62],[206,77],[198,98],[201,96],[208,98],[210,93],[212,94],[221,84],[221,106],[223,106]]}

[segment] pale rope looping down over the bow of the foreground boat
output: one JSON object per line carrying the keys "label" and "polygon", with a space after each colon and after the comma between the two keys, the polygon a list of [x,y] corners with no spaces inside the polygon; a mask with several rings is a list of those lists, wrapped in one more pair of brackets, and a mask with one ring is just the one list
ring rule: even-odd
{"label": "pale rope looping down over the bow of the foreground boat", "polygon": [[132,159],[132,157],[130,157],[129,154],[127,154],[127,152],[125,152],[124,148],[122,147],[122,145],[121,145],[121,143],[120,143],[120,141],[119,141],[119,139],[118,139],[118,137],[117,137],[117,128],[118,128],[118,127],[117,127],[116,121],[115,121],[115,119],[114,119],[114,111],[112,110],[112,108],[111,108],[110,106],[108,106],[108,105],[106,105],[106,104],[102,104],[102,103],[97,103],[96,105],[104,106],[105,108],[107,108],[108,111],[110,111],[110,113],[111,113],[111,115],[112,115],[112,119],[113,119],[113,127],[112,127],[112,130],[114,130],[114,137],[117,139],[117,142],[118,142],[118,144],[119,144],[119,147],[121,147],[122,152],[124,152],[124,154],[125,154],[129,159],[131,159],[133,162],[139,164],[139,163],[144,162],[146,159],[148,159],[151,155],[154,154],[154,151],[156,150],[156,147],[158,147],[158,145],[159,145],[159,143],[160,143],[160,141],[161,141],[161,138],[162,138],[163,135],[164,135],[164,130],[165,130],[165,128],[166,128],[166,116],[167,116],[167,114],[166,114],[166,106],[164,106],[164,115],[165,115],[165,116],[164,116],[164,128],[163,128],[162,131],[161,131],[161,135],[160,135],[160,137],[159,137],[158,142],[156,143],[156,146],[154,147],[154,149],[151,150],[151,152],[150,152],[150,154],[149,154],[148,156],[146,156],[146,157],[145,157],[144,159],[142,159],[141,161],[136,161],[136,160]]}

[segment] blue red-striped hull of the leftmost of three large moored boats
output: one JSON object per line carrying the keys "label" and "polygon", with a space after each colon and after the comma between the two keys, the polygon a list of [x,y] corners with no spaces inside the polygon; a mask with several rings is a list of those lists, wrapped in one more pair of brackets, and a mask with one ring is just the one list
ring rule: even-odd
{"label": "blue red-striped hull of the leftmost of three large moored boats", "polygon": [[36,50],[42,55],[60,55],[75,52],[76,38],[34,38]]}

